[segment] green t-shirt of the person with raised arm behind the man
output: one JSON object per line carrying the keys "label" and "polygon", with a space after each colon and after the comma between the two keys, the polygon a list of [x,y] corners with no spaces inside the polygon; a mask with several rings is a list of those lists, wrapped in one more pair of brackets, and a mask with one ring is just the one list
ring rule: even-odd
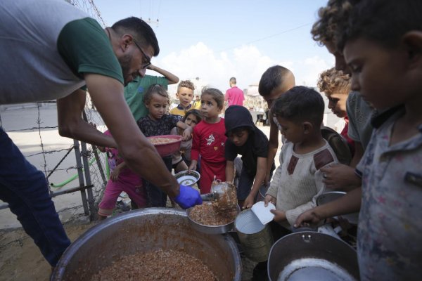
{"label": "green t-shirt of the person with raised arm behind the man", "polygon": [[148,110],[142,100],[143,94],[148,90],[149,86],[155,84],[160,84],[167,90],[169,81],[165,77],[145,75],[144,77],[136,77],[136,79],[124,87],[124,99],[127,105],[129,105],[130,112],[132,112],[136,121],[148,115]]}

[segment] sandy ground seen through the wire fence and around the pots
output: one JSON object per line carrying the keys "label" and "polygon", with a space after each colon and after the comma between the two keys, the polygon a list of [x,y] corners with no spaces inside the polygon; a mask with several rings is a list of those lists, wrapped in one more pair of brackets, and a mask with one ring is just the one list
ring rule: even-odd
{"label": "sandy ground seen through the wire fence and around the pots", "polygon": [[[26,108],[25,110],[2,111],[0,112],[0,117],[4,129],[11,131],[37,126],[37,114],[37,108],[32,107]],[[40,114],[41,126],[56,126],[55,107],[49,106],[42,108]],[[260,126],[259,128],[267,136],[269,135],[268,126]],[[30,155],[40,151],[40,136],[38,131],[17,131],[8,134],[24,155]],[[58,135],[57,129],[43,131],[42,141],[47,150],[69,148],[73,143],[68,138],[61,138]],[[46,157],[46,162],[54,166],[60,160],[61,156],[46,155]],[[39,167],[39,169],[41,169],[42,163],[44,163],[42,156],[30,157],[29,160],[32,164]],[[64,166],[72,166],[75,162],[75,156],[68,157],[65,161]],[[276,156],[276,164],[279,164],[278,156]],[[59,183],[69,178],[69,176],[70,174],[68,172],[57,173],[52,176],[51,182]],[[83,215],[82,209],[77,207],[81,204],[79,192],[55,197],[53,201],[70,240],[74,241],[82,233],[91,228],[91,226],[96,224],[96,222],[89,222],[89,218]],[[252,268],[255,266],[255,263],[245,258],[242,261],[243,280],[250,280],[252,277]],[[0,210],[0,281],[49,280],[50,274],[51,267],[49,263],[41,256],[39,249],[35,246],[32,239],[20,228],[20,223],[16,220],[15,216],[8,209]]]}

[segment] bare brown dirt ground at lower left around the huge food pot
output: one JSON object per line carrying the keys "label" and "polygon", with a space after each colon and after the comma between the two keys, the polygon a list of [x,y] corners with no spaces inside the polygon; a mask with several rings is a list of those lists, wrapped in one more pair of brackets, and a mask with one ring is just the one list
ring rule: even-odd
{"label": "bare brown dirt ground at lower left around the huge food pot", "polygon": [[[96,222],[72,221],[64,227],[74,241]],[[255,263],[243,257],[242,280],[250,280]],[[0,281],[49,280],[51,266],[22,228],[0,230]]]}

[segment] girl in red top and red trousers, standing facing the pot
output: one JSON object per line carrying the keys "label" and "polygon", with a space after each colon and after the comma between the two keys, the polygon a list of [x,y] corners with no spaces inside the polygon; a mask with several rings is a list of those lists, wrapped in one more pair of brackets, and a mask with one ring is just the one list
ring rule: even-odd
{"label": "girl in red top and red trousers, standing facing the pot", "polygon": [[222,112],[224,94],[218,89],[204,88],[201,96],[200,112],[203,121],[193,129],[192,162],[189,170],[196,170],[200,155],[200,192],[209,193],[215,178],[226,181],[226,159],[224,143],[226,129],[224,119],[218,115]]}

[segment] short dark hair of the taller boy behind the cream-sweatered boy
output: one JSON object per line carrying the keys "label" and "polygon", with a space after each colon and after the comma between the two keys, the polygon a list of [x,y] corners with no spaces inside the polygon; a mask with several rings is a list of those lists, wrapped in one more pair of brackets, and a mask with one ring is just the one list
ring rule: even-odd
{"label": "short dark hair of the taller boy behind the cream-sweatered boy", "polygon": [[286,75],[291,74],[290,70],[280,65],[269,67],[260,79],[258,92],[261,96],[269,96],[271,91],[283,84]]}

